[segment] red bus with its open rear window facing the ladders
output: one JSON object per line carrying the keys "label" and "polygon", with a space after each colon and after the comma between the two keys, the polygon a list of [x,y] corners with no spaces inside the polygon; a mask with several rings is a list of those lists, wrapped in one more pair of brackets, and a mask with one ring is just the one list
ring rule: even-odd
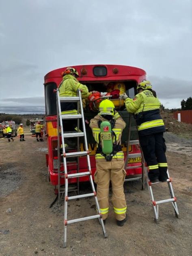
{"label": "red bus with its open rear window facing the ladders", "polygon": [[[136,87],[138,83],[146,79],[146,72],[143,69],[137,67],[129,67],[124,65],[77,65],[74,67],[78,73],[78,80],[86,85],[89,91],[99,91],[105,92],[106,87],[111,82],[123,82],[125,84],[126,93],[130,98],[134,98],[136,94]],[[58,88],[60,82],[62,81],[61,73],[66,69],[66,67],[55,69],[45,75],[45,110],[46,110],[46,133],[47,133],[47,147],[48,154],[46,155],[49,180],[54,185],[55,192],[57,191],[58,185],[58,154],[57,154],[57,113],[56,113],[56,93],[54,89]],[[116,110],[119,112],[121,117],[126,122],[127,126],[123,130],[122,135],[122,150],[126,157],[127,152],[127,135],[128,135],[128,120],[129,113],[125,110],[125,106],[118,106]],[[92,119],[96,112],[93,112],[93,109],[85,108],[84,118],[89,122]],[[88,123],[87,122],[87,123]],[[136,126],[136,122],[132,119],[132,123]],[[89,146],[90,161],[92,174],[95,173],[95,151],[97,144],[93,138],[91,128],[86,124],[86,135],[87,142]],[[131,139],[138,139],[138,133],[132,132]],[[84,144],[80,143],[80,148],[84,151]],[[139,145],[129,145],[129,154],[139,153]],[[127,176],[140,175],[142,173],[142,168],[138,167],[138,163],[141,162],[139,157],[130,158],[129,166],[132,166],[132,169],[127,169]],[[137,166],[134,168],[134,166]],[[63,170],[63,165],[61,163],[61,171]],[[86,157],[80,157],[79,161],[79,171],[84,172],[87,169]],[[77,165],[70,164],[68,167],[68,172],[70,174],[77,172]],[[88,181],[88,177],[80,177],[80,182]],[[69,183],[76,183],[77,178],[71,178]],[[60,178],[60,184],[65,184],[64,175]]]}

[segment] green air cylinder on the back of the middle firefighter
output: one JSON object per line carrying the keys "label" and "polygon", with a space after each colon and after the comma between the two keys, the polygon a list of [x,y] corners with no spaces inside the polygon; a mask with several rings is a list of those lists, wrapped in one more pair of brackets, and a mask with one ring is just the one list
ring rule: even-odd
{"label": "green air cylinder on the back of the middle firefighter", "polygon": [[101,147],[104,154],[110,154],[113,151],[113,141],[111,124],[109,121],[102,121],[100,125],[101,129]]}

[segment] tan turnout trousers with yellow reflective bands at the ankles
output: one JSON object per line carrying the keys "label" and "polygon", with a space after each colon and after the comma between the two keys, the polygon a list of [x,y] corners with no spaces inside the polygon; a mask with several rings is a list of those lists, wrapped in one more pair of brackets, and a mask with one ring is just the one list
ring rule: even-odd
{"label": "tan turnout trousers with yellow reflective bands at the ankles", "polygon": [[117,220],[126,217],[126,200],[123,189],[125,180],[124,159],[120,161],[96,162],[94,181],[97,184],[97,198],[103,219],[109,212],[109,185],[112,184],[112,204]]}

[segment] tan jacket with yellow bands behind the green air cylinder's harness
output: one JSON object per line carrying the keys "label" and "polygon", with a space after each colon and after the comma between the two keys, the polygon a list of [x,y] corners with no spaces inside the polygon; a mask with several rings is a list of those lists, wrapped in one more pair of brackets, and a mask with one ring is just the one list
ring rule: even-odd
{"label": "tan jacket with yellow bands behind the green air cylinder's harness", "polygon": [[[123,121],[122,117],[120,117],[118,112],[115,112],[114,115],[114,127],[112,128],[112,131],[115,133],[116,135],[116,145],[119,145],[119,147],[121,148],[121,136],[122,136],[122,132],[123,129],[125,128],[126,124]],[[90,121],[90,127],[92,129],[93,132],[93,137],[95,139],[95,141],[97,142],[97,147],[100,148],[101,147],[101,141],[99,141],[99,134],[101,132],[101,129],[99,128],[99,121],[106,121],[107,119],[105,119],[104,117],[102,117],[101,115],[96,115],[93,119],[91,119]],[[115,137],[112,136],[113,139],[113,143],[115,143]],[[100,145],[99,145],[100,143]],[[99,147],[100,146],[100,147]],[[119,150],[113,157],[112,157],[112,161],[119,161],[124,159],[124,154],[122,150]],[[95,155],[95,160],[96,162],[106,162],[106,158],[105,156],[103,156],[101,153],[97,153]]]}

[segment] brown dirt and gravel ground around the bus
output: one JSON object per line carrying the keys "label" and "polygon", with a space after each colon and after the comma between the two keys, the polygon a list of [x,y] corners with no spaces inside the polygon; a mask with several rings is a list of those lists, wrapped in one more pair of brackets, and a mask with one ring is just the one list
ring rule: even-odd
{"label": "brown dirt and gravel ground around the bus", "polygon": [[[192,255],[192,143],[168,142],[168,165],[181,219],[170,203],[160,205],[160,223],[153,221],[147,186],[126,183],[127,223],[116,226],[112,207],[104,239],[97,220],[69,225],[67,248],[59,246],[63,234],[63,208],[49,208],[55,195],[47,182],[46,141],[30,134],[26,141],[0,139],[0,255]],[[184,143],[184,144],[183,144]],[[188,152],[186,152],[188,151]],[[88,187],[81,187],[81,191]],[[158,184],[157,199],[167,198],[167,184]],[[11,208],[11,212],[6,212]],[[95,214],[91,199],[69,202],[69,219]]]}

